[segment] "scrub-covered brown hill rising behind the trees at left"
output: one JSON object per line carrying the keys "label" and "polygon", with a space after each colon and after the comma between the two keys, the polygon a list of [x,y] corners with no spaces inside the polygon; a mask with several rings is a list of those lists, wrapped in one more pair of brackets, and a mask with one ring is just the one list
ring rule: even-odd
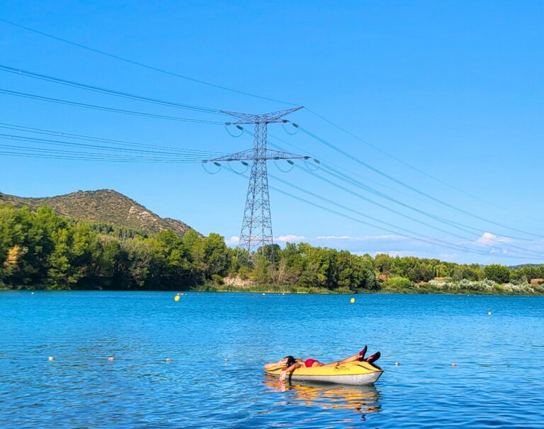
{"label": "scrub-covered brown hill rising behind the trees at left", "polygon": [[192,229],[186,223],[176,219],[161,218],[128,196],[111,189],[77,191],[72,194],[42,198],[24,198],[0,192],[0,204],[10,204],[15,207],[28,206],[33,210],[40,206],[49,206],[67,218],[111,223],[146,233],[158,233],[169,229],[182,237]]}

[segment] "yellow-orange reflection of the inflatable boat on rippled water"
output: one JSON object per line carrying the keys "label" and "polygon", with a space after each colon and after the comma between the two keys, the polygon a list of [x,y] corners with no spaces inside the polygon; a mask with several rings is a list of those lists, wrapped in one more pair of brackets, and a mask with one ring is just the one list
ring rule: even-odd
{"label": "yellow-orange reflection of the inflatable boat on rippled water", "polygon": [[361,413],[365,420],[368,413],[380,411],[379,394],[374,386],[341,386],[339,384],[290,384],[266,375],[263,384],[285,392],[285,403],[318,406],[324,410],[351,410]]}

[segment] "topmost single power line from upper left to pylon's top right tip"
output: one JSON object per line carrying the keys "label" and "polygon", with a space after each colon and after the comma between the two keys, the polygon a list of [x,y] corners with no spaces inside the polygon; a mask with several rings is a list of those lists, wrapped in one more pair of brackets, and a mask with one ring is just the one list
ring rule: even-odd
{"label": "topmost single power line from upper left to pylon's top right tip", "polygon": [[73,46],[77,46],[78,48],[81,48],[81,49],[84,49],[84,50],[89,50],[91,52],[95,52],[97,54],[100,54],[100,55],[106,55],[106,57],[111,57],[111,58],[115,58],[115,60],[120,60],[120,61],[123,61],[123,62],[128,62],[129,64],[132,64],[132,65],[137,65],[139,67],[144,67],[146,69],[150,69],[150,70],[154,70],[155,72],[159,72],[159,73],[164,73],[164,74],[169,74],[170,76],[174,76],[174,77],[179,77],[181,79],[186,79],[188,81],[191,81],[191,82],[196,82],[198,84],[203,84],[203,85],[206,85],[208,87],[213,87],[213,88],[217,88],[217,89],[223,89],[225,91],[230,91],[230,92],[234,92],[235,94],[242,94],[242,95],[246,95],[246,96],[251,96],[251,97],[254,97],[256,99],[261,99],[261,100],[267,100],[267,101],[274,101],[276,103],[281,103],[281,104],[288,104],[290,106],[299,106],[300,104],[293,104],[293,103],[288,103],[286,101],[280,101],[280,100],[276,100],[276,99],[271,99],[269,97],[265,97],[265,96],[259,96],[259,95],[256,95],[256,94],[251,94],[250,92],[245,92],[245,91],[239,91],[237,89],[232,89],[232,88],[229,88],[229,87],[223,87],[222,85],[217,85],[217,84],[212,84],[210,82],[205,82],[203,80],[200,80],[200,79],[195,79],[193,77],[188,77],[188,76],[184,76],[183,74],[179,74],[179,73],[175,73],[175,72],[169,72],[168,70],[166,69],[161,69],[159,67],[154,67],[152,65],[147,65],[143,62],[138,62],[138,61],[134,61],[134,60],[129,60],[128,58],[125,58],[125,57],[121,57],[120,55],[114,55],[114,54],[111,54],[109,52],[105,52],[103,50],[98,50],[98,49],[94,49],[94,48],[91,48],[89,46],[86,46],[86,45],[82,45],[81,43],[76,43],[76,42],[72,42],[71,40],[67,40],[67,39],[64,39],[64,38],[60,38],[60,37],[57,37],[55,35],[51,35],[51,34],[48,34],[48,33],[44,33],[43,31],[39,31],[39,30],[35,30],[34,28],[30,28],[30,27],[26,27],[26,26],[21,26],[21,24],[18,24],[18,23],[13,23],[11,21],[8,21],[4,18],[0,18],[0,22],[3,22],[3,23],[6,23],[6,24],[9,24],[10,26],[14,26],[14,27],[18,27],[18,28],[23,28],[24,30],[28,30],[32,33],[36,33],[36,34],[39,34],[39,35],[43,35],[47,38],[51,38],[51,39],[54,39],[54,40],[58,40],[62,43],[67,43],[69,45],[73,45]]}

